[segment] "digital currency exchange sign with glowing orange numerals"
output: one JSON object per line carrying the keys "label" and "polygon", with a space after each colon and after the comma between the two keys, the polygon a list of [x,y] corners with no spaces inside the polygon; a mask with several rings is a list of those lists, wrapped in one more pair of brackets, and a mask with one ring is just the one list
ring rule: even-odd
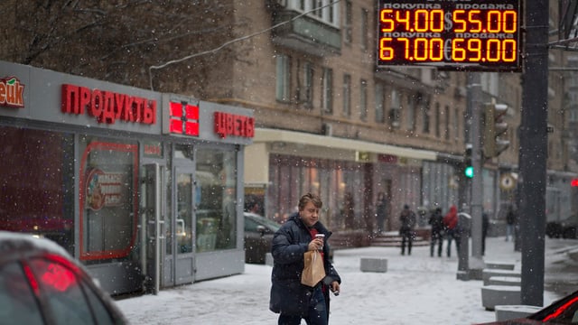
{"label": "digital currency exchange sign with glowing orange numerals", "polygon": [[378,67],[520,71],[522,0],[378,0]]}

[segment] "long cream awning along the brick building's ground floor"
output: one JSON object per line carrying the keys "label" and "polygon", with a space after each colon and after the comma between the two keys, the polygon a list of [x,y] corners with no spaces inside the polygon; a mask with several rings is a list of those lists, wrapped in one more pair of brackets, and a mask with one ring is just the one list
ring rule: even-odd
{"label": "long cream awning along the brick building's ground floor", "polygon": [[376,144],[366,141],[343,139],[326,135],[312,135],[302,132],[256,128],[254,143],[282,142],[287,144],[305,144],[324,148],[334,148],[368,153],[391,154],[398,157],[435,161],[437,153],[429,150],[413,149],[389,144]]}

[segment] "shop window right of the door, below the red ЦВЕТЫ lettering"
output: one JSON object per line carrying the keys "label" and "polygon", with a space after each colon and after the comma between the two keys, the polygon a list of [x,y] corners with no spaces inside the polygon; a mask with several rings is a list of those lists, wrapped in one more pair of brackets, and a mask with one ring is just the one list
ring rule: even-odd
{"label": "shop window right of the door, below the red \u0426\u0412\u0415\u0422\u042b lettering", "polygon": [[195,174],[196,250],[237,244],[237,152],[199,148]]}

